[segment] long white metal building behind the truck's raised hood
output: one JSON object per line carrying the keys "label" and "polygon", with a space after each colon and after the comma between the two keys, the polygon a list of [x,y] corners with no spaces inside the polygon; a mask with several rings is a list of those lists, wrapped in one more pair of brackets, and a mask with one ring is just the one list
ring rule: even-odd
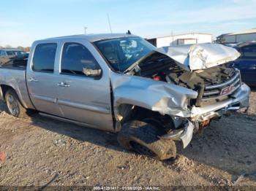
{"label": "long white metal building behind the truck's raised hood", "polygon": [[178,34],[170,36],[160,36],[151,39],[146,39],[156,47],[178,46],[181,44],[197,44],[212,42],[212,34],[190,33]]}

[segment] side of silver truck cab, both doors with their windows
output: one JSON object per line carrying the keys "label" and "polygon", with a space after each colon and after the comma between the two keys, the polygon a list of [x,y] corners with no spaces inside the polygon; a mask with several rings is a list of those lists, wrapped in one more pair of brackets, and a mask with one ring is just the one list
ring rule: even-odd
{"label": "side of silver truck cab, both doors with their windows", "polygon": [[[92,76],[84,69],[102,72]],[[34,42],[26,77],[35,109],[113,130],[109,69],[88,40],[72,36]]]}

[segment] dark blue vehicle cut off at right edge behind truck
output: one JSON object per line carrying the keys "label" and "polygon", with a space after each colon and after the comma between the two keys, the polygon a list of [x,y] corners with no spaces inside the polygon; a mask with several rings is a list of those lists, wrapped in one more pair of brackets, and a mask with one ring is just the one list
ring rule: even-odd
{"label": "dark blue vehicle cut off at right edge behind truck", "polygon": [[241,53],[234,66],[240,70],[242,81],[256,87],[256,41],[242,42],[234,47]]}

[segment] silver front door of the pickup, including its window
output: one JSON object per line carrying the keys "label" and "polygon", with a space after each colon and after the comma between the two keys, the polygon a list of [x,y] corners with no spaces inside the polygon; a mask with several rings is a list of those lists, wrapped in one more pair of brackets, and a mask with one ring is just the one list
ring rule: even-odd
{"label": "silver front door of the pickup, including its window", "polygon": [[58,87],[61,112],[67,119],[113,130],[108,72],[89,77],[83,74],[83,69],[101,70],[85,44],[64,42]]}

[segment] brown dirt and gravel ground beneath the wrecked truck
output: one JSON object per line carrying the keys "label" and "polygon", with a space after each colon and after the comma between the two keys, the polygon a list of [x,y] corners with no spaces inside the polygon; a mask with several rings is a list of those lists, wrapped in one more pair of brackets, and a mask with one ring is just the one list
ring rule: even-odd
{"label": "brown dirt and gravel ground beneath the wrecked truck", "polygon": [[[19,120],[0,103],[0,185],[231,186],[256,172],[256,92],[249,114],[212,122],[203,135],[160,162],[124,151],[116,135],[35,115]],[[256,174],[238,185],[256,187]]]}

